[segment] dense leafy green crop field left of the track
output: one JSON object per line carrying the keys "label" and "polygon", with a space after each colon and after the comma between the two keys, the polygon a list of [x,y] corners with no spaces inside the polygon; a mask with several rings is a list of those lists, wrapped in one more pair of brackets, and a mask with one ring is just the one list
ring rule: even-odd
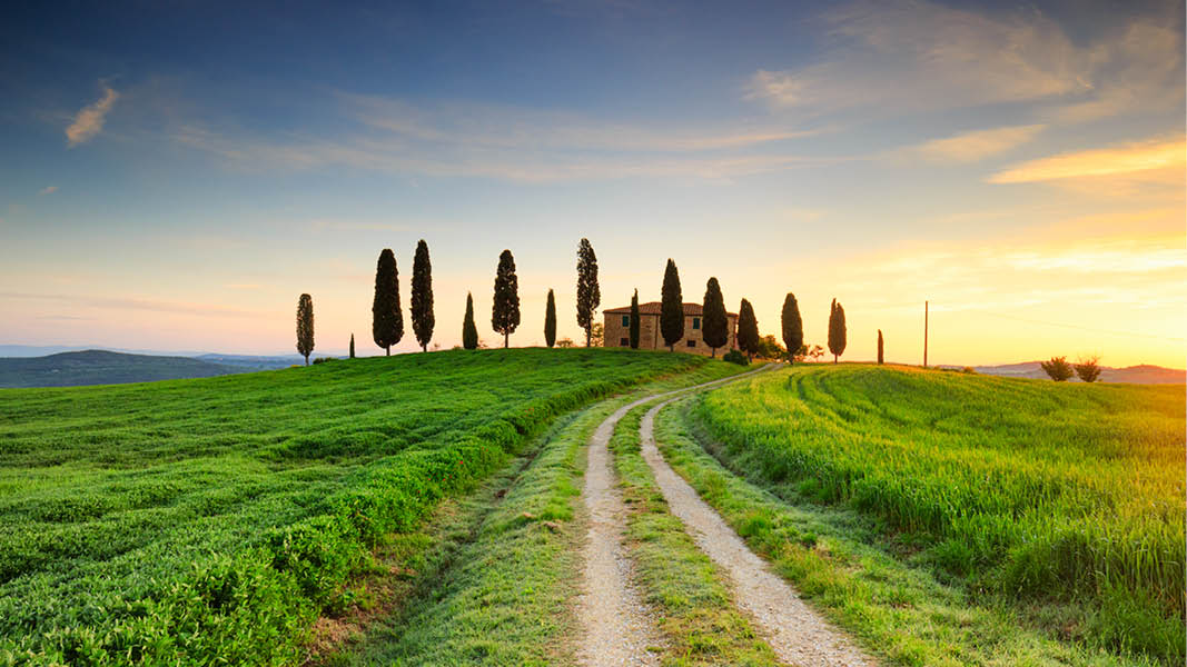
{"label": "dense leafy green crop field left of the track", "polygon": [[393,532],[688,355],[490,350],[0,392],[0,662],[291,662]]}

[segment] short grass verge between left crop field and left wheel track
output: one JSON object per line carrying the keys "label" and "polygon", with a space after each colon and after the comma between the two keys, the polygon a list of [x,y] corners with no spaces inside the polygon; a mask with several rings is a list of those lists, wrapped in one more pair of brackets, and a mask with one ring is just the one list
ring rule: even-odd
{"label": "short grass verge between left crop field and left wheel track", "polygon": [[[566,415],[538,439],[519,472],[465,501],[465,538],[427,539],[399,571],[415,571],[402,604],[370,624],[326,666],[575,665],[582,580],[580,489],[594,430],[637,398],[743,371],[723,362],[650,382]],[[534,458],[533,458],[534,455]],[[516,468],[516,466],[512,466]],[[429,566],[417,565],[431,561]]]}

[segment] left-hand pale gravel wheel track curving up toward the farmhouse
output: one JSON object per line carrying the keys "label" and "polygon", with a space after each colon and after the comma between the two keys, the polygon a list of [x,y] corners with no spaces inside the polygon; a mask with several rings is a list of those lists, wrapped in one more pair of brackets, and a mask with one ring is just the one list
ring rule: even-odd
{"label": "left-hand pale gravel wheel track curving up toward the farmhouse", "polygon": [[642,601],[634,585],[633,563],[622,544],[627,508],[616,485],[614,460],[608,447],[614,427],[624,414],[640,405],[729,382],[750,373],[639,399],[615,411],[590,437],[585,488],[582,491],[589,512],[589,533],[582,595],[576,610],[584,629],[578,652],[582,665],[659,665],[659,656],[648,648],[664,643],[656,629],[654,610]]}

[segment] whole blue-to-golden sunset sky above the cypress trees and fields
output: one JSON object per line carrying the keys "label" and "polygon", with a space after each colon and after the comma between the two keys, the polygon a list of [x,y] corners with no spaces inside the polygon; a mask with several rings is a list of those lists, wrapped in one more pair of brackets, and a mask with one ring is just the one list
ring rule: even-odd
{"label": "whole blue-to-golden sunset sky above the cypress trees and fields", "polygon": [[[375,262],[434,343],[685,300],[843,360],[1187,355],[1182,2],[65,2],[0,20],[0,343],[293,352],[370,339]],[[417,343],[406,325],[399,350]]]}

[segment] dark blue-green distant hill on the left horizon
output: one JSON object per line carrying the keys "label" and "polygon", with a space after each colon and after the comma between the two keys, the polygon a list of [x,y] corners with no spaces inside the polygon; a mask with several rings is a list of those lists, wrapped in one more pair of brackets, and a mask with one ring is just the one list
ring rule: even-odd
{"label": "dark blue-green distant hill on the left horizon", "polygon": [[246,373],[249,368],[190,357],[128,355],[107,350],[40,357],[0,357],[0,387],[122,385]]}

